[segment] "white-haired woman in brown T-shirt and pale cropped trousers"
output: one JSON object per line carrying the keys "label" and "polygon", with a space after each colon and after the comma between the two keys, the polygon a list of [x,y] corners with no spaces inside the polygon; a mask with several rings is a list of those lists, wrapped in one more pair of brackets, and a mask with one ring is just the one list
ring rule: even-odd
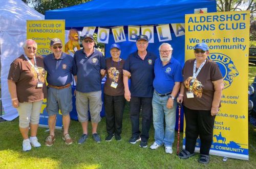
{"label": "white-haired woman in brown T-shirt and pale cropped trousers", "polygon": [[[35,56],[37,44],[28,39],[24,43],[24,54],[11,63],[8,87],[12,106],[19,114],[19,130],[23,136],[23,151],[40,147],[37,141],[37,128],[45,90],[45,69],[41,56]],[[29,127],[31,137],[29,138]]]}

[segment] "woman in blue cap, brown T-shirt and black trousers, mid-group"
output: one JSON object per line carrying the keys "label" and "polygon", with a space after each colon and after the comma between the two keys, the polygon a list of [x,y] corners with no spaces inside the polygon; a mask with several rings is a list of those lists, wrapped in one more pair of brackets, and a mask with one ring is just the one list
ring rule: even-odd
{"label": "woman in blue cap, brown T-shirt and black trousers, mid-group", "polygon": [[106,114],[106,141],[111,141],[115,136],[117,141],[121,140],[124,100],[123,86],[123,64],[120,58],[121,50],[119,44],[110,47],[111,58],[106,59],[106,70],[101,70],[101,75],[106,74],[104,85],[104,106]]}

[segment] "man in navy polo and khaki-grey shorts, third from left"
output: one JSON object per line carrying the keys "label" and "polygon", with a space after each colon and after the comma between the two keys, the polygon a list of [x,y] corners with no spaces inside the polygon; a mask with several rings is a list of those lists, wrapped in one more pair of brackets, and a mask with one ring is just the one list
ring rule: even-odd
{"label": "man in navy polo and khaki-grey shorts, third from left", "polygon": [[78,120],[82,125],[83,134],[78,140],[84,143],[88,138],[88,109],[92,122],[92,135],[96,142],[100,142],[97,133],[100,122],[101,101],[101,75],[100,70],[105,69],[105,57],[94,48],[94,39],[90,34],[83,36],[83,49],[75,52],[74,60],[77,66],[76,80],[76,110]]}

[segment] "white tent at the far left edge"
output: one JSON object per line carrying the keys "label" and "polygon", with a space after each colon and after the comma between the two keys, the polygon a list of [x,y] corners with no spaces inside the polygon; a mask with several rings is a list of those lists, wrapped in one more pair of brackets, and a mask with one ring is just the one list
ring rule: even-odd
{"label": "white tent at the far left edge", "polygon": [[27,20],[41,20],[44,15],[28,7],[21,0],[0,1],[0,56],[1,56],[1,98],[6,120],[18,116],[12,107],[7,77],[11,62],[23,53],[22,45],[27,37]]}

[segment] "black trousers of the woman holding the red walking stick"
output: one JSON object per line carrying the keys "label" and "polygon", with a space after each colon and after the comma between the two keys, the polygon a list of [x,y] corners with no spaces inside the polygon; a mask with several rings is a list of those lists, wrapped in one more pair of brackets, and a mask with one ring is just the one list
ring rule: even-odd
{"label": "black trousers of the woman holding the red walking stick", "polygon": [[199,136],[201,140],[200,154],[209,155],[215,116],[211,116],[210,110],[191,110],[185,106],[184,114],[186,119],[185,149],[190,153],[194,153]]}

